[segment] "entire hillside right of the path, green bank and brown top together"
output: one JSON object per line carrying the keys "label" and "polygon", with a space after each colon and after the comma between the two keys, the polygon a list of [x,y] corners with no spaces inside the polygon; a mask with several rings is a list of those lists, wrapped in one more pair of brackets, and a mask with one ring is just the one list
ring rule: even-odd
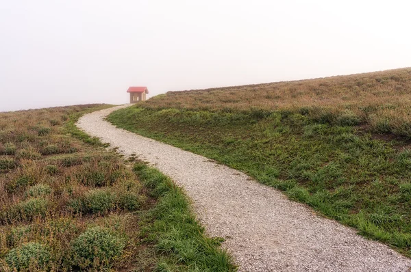
{"label": "entire hillside right of the path, green bank and brown top together", "polygon": [[169,92],[108,120],[203,154],[411,256],[411,68]]}

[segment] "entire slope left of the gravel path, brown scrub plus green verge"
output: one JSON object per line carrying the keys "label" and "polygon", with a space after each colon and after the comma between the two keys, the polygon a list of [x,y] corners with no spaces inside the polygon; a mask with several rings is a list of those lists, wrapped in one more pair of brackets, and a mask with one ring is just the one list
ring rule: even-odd
{"label": "entire slope left of the gravel path, brown scrub plus green verge", "polygon": [[0,113],[0,271],[234,271],[169,178],[76,128],[105,107]]}

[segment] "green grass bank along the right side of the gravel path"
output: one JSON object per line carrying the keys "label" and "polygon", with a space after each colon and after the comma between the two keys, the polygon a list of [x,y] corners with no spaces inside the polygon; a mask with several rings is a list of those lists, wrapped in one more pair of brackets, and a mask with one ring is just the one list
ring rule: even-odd
{"label": "green grass bank along the right side of the gravel path", "polygon": [[239,169],[411,256],[408,141],[375,139],[348,113],[314,117],[302,109],[201,111],[145,105],[114,111],[108,120]]}

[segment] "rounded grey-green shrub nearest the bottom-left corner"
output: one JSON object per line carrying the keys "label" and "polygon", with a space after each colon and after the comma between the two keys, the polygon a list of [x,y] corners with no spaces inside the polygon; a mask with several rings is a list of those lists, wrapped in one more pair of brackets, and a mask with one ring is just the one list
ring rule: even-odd
{"label": "rounded grey-green shrub nearest the bottom-left corner", "polygon": [[40,243],[26,243],[8,252],[5,261],[11,269],[29,271],[34,264],[42,271],[47,270],[50,262],[49,248]]}

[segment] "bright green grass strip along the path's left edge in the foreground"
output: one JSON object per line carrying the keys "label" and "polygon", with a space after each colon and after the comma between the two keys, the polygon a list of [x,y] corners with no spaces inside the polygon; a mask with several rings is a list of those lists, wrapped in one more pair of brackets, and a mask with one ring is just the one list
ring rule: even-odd
{"label": "bright green grass strip along the path's left edge in the foreground", "polygon": [[147,228],[148,239],[162,254],[155,271],[236,271],[230,256],[219,248],[221,239],[204,234],[182,189],[144,163],[136,163],[134,171],[158,198],[147,218],[153,221]]}

